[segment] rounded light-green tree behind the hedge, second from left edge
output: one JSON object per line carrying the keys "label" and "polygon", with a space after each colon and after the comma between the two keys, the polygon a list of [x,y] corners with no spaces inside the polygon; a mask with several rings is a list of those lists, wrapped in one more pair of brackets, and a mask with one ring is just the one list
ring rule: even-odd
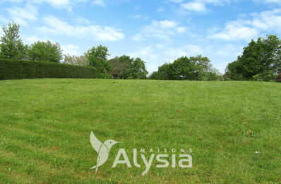
{"label": "rounded light-green tree behind the hedge, second from left edge", "polygon": [[59,62],[62,50],[59,43],[37,41],[28,48],[28,59],[35,61]]}

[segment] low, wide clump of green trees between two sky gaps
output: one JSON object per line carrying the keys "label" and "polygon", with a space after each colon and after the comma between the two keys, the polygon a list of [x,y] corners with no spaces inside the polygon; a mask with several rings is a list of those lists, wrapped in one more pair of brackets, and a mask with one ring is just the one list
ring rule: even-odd
{"label": "low, wide clump of green trees between two sky gaps", "polygon": [[208,57],[198,55],[165,63],[150,75],[150,79],[213,81],[220,79],[220,72],[213,68]]}

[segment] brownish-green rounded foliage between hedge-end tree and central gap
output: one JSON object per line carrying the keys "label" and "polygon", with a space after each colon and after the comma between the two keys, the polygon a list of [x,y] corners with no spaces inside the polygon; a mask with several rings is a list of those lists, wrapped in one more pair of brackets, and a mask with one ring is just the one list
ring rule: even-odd
{"label": "brownish-green rounded foliage between hedge-end tree and central gap", "polygon": [[148,71],[145,62],[139,57],[134,59],[123,55],[109,60],[112,66],[110,74],[114,79],[146,79]]}

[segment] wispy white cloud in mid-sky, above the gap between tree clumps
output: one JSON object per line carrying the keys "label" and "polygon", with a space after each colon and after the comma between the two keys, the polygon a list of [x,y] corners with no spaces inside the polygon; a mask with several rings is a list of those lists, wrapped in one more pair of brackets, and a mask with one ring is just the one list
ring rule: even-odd
{"label": "wispy white cloud in mid-sky, above the gap between tree clumps", "polygon": [[158,38],[162,40],[169,40],[171,35],[176,33],[184,33],[186,28],[179,26],[175,21],[152,21],[150,25],[145,25],[141,33],[133,36],[133,40],[143,40],[143,38]]}

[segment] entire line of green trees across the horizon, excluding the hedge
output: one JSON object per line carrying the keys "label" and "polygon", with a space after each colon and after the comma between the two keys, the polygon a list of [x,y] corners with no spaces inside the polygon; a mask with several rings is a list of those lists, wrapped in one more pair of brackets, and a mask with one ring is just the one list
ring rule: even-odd
{"label": "entire line of green trees across the horizon, excluding the hedge", "polygon": [[62,54],[59,43],[37,41],[24,45],[19,35],[20,26],[8,23],[3,26],[0,40],[0,57],[91,66],[101,79],[157,79],[157,80],[258,80],[273,81],[281,71],[281,40],[277,35],[251,40],[237,60],[227,64],[225,74],[220,74],[208,57],[180,57],[165,63],[148,76],[145,62],[123,55],[108,59],[106,46],[97,45],[81,56]]}

